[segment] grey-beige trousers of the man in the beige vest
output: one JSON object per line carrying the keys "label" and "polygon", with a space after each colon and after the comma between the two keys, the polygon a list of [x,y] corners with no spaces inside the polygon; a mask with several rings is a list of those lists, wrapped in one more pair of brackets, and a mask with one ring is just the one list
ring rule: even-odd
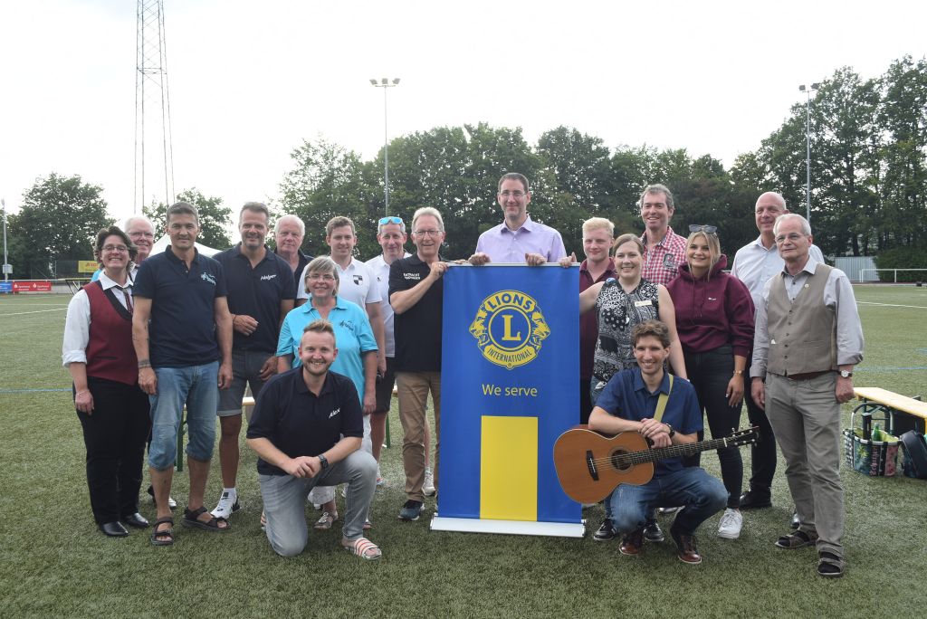
{"label": "grey-beige trousers of the man in the beige vest", "polygon": [[794,381],[767,374],[766,413],[785,457],[785,476],[818,551],[843,558],[844,486],[840,483],[840,403],[836,373]]}

